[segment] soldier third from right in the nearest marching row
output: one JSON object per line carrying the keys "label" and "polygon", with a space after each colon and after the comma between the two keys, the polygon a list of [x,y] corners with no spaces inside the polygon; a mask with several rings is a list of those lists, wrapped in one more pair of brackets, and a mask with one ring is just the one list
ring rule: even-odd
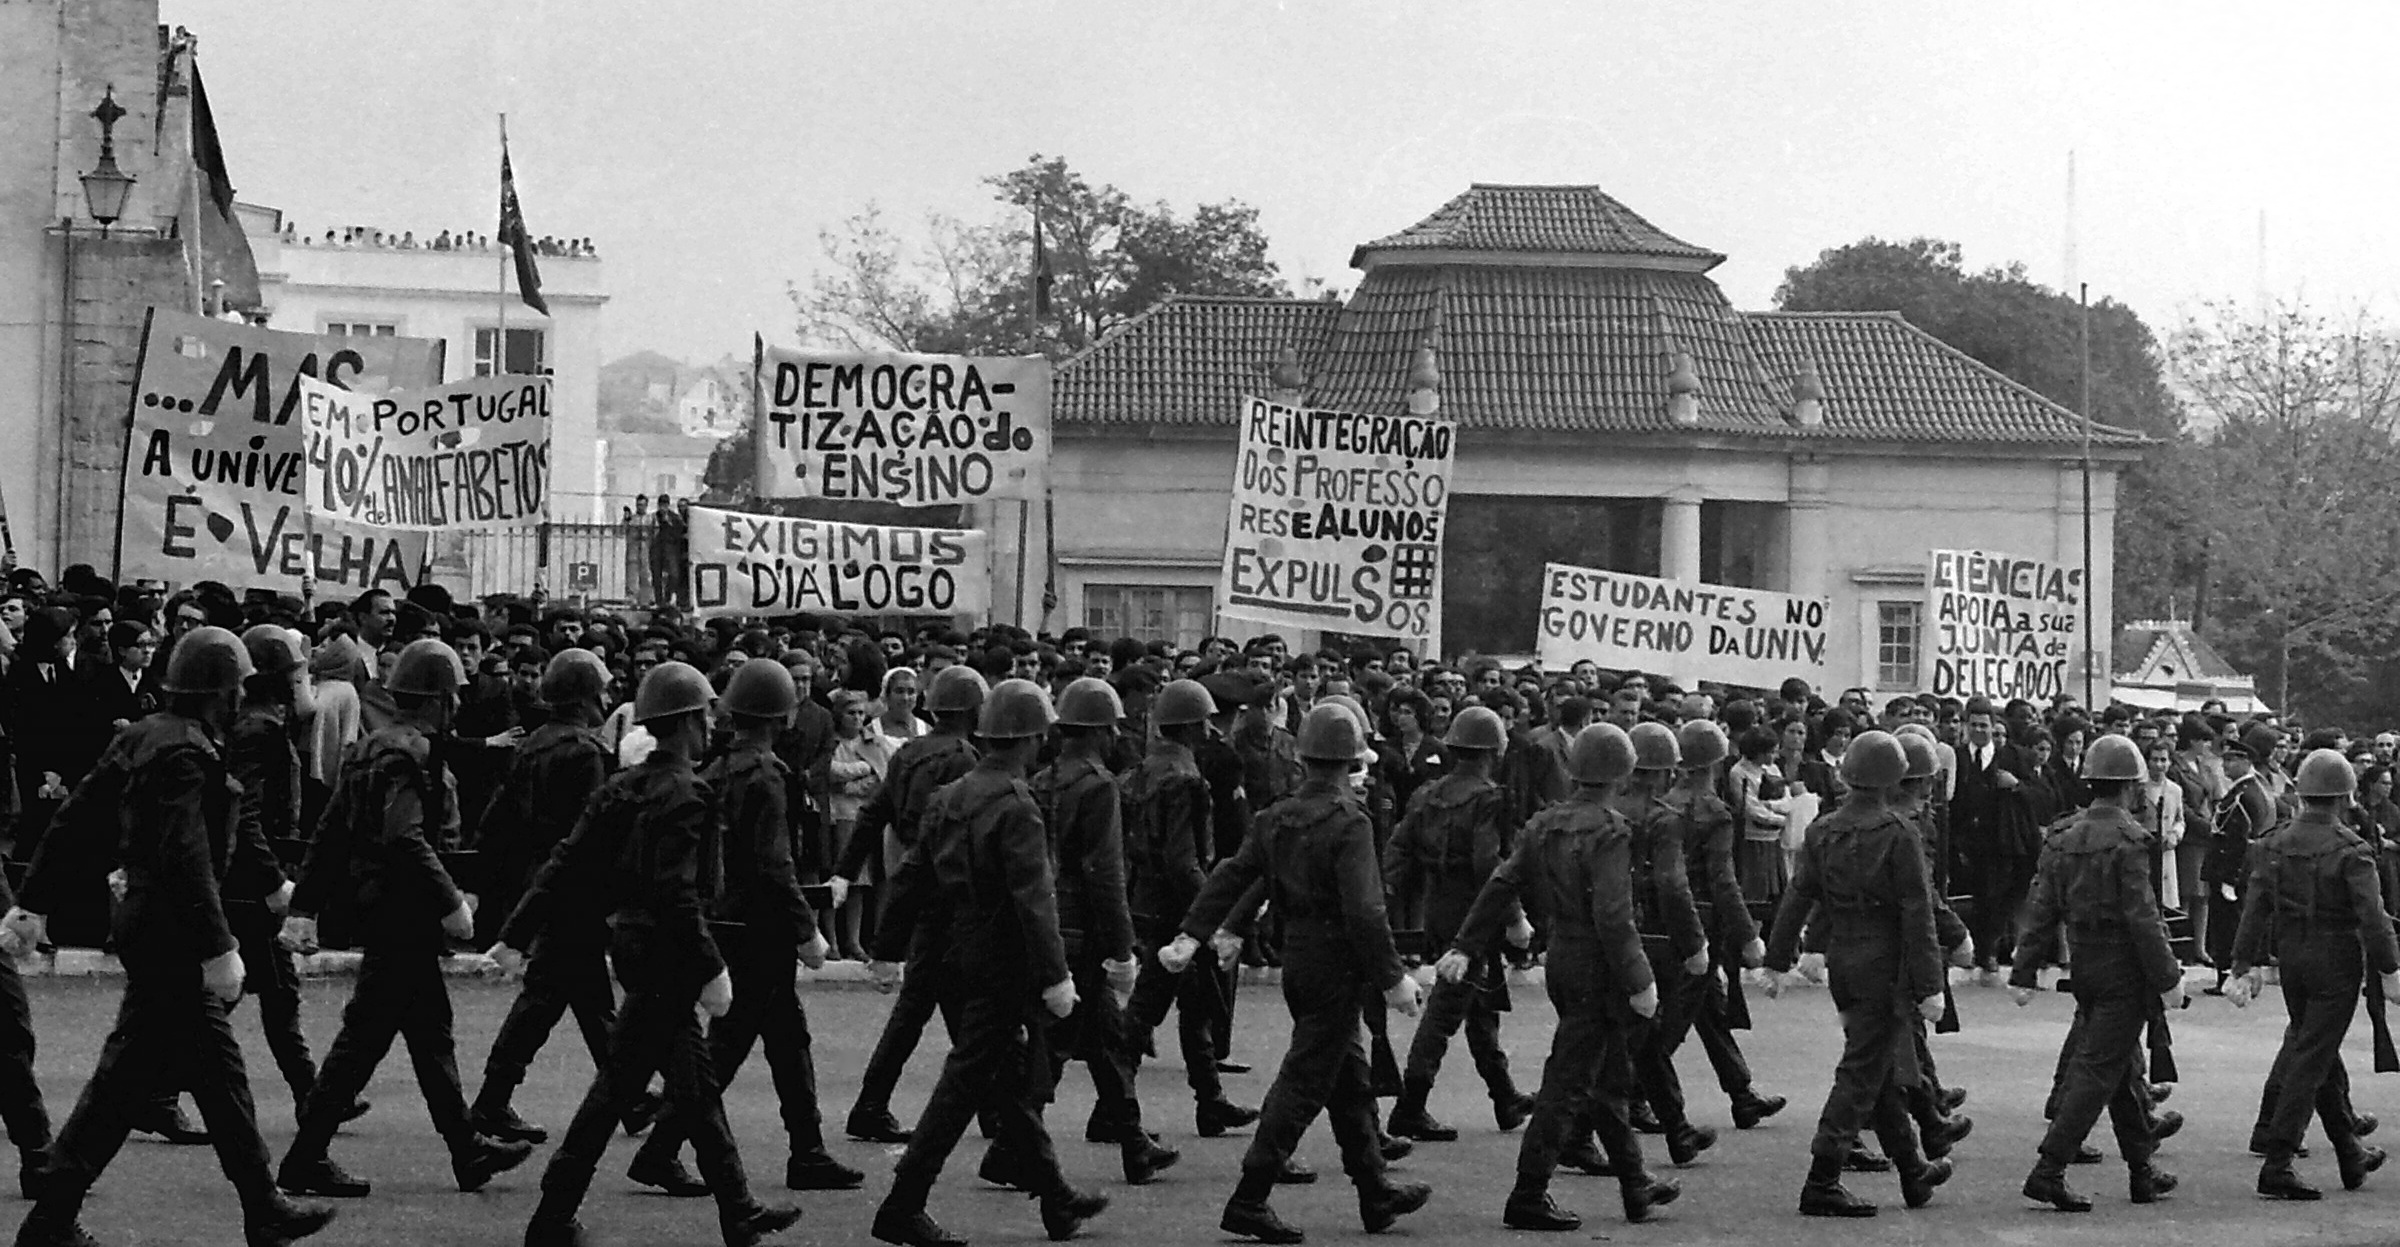
{"label": "soldier third from right in the nearest marching row", "polygon": [[[1841,1185],[1858,1132],[1877,1139],[1901,1170],[1901,1197],[1922,1209],[1949,1182],[1949,1161],[1918,1151],[1906,1091],[1918,1082],[1910,1026],[1942,1017],[1942,947],[1934,942],[1932,880],[1915,827],[1894,811],[1908,755],[1889,731],[1860,731],[1841,755],[1850,796],[1807,830],[1800,871],[1776,911],[1766,969],[1783,974],[1814,911],[1826,928],[1826,974],[1841,1012],[1843,1053],[1834,1091],[1810,1144],[1802,1216],[1874,1216],[1874,1204]],[[1769,993],[1781,978],[1769,978]]]}

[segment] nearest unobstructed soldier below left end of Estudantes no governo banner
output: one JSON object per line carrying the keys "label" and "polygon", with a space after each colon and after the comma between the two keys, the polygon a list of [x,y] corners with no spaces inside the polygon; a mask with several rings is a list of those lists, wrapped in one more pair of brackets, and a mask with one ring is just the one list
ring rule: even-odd
{"label": "nearest unobstructed soldier below left end of Estudantes no governo banner", "polygon": [[1526,947],[1538,921],[1550,942],[1543,981],[1558,1029],[1541,1067],[1534,1120],[1517,1146],[1517,1185],[1502,1211],[1512,1230],[1562,1233],[1584,1223],[1550,1199],[1550,1175],[1586,1129],[1596,1129],[1608,1151],[1625,1221],[1649,1221],[1651,1209],[1682,1194],[1675,1182],[1649,1175],[1625,1113],[1632,1046],[1644,1019],[1658,1014],[1658,983],[1634,926],[1634,832],[1610,803],[1632,772],[1634,743],[1625,729],[1598,722],[1577,731],[1567,741],[1574,791],[1524,825],[1435,964],[1435,978],[1464,978],[1476,957],[1490,954],[1502,926],[1507,942]]}

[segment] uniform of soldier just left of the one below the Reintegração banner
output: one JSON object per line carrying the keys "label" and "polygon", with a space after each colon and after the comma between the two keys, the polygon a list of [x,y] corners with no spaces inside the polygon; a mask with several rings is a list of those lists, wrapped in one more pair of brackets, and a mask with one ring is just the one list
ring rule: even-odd
{"label": "uniform of soldier just left of the one below the Reintegra\u00e7\u00e3o banner", "polygon": [[[1217,1072],[1214,1022],[1224,1012],[1224,978],[1217,954],[1202,945],[1188,974],[1171,974],[1157,954],[1176,938],[1176,921],[1190,909],[1207,882],[1214,844],[1214,803],[1193,751],[1154,736],[1142,765],[1121,782],[1126,835],[1126,899],[1133,909],[1133,933],[1145,947],[1142,974],[1126,1005],[1138,1034],[1154,1031],[1176,1010],[1176,1038],[1183,1048],[1183,1077],[1200,1106],[1202,1134],[1212,1106],[1224,1103],[1224,1079]],[[1258,830],[1253,827],[1253,837]]]}

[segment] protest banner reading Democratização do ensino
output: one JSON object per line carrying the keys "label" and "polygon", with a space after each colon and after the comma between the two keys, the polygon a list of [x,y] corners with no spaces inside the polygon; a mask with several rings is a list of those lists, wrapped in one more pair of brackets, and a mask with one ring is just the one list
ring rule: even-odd
{"label": "protest banner reading Democratiza\u00e7\u00e3o do ensino", "polygon": [[754,369],[758,496],[946,506],[1049,489],[1039,355],[761,348]]}

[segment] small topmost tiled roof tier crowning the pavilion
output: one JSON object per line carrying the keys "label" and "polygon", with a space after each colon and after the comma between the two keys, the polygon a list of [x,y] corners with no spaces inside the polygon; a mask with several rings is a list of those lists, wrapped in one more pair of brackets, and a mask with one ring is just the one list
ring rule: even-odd
{"label": "small topmost tiled roof tier crowning the pavilion", "polygon": [[1704,261],[1704,269],[1726,259],[1651,225],[1642,213],[1603,194],[1601,187],[1507,187],[1493,182],[1466,187],[1466,194],[1442,204],[1406,230],[1358,245],[1351,252],[1351,266],[1363,269],[1368,252],[1409,249],[1668,257]]}

